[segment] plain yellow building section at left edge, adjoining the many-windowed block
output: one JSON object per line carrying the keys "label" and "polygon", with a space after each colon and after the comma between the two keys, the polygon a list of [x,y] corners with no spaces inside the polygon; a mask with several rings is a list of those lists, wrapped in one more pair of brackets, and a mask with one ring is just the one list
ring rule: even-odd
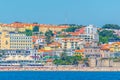
{"label": "plain yellow building section at left edge, adjoining the many-windowed block", "polygon": [[10,36],[8,31],[0,33],[0,49],[10,49]]}

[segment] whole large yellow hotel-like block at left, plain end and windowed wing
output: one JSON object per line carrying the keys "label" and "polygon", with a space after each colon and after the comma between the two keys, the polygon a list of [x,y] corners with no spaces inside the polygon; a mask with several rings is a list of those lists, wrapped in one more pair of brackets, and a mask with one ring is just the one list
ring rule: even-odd
{"label": "whole large yellow hotel-like block at left, plain end and windowed wing", "polygon": [[32,36],[4,30],[0,32],[0,49],[33,49]]}

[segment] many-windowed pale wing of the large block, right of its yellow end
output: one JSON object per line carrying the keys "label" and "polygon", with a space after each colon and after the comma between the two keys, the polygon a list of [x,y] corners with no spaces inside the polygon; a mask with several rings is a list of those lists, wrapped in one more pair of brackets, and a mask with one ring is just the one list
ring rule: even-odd
{"label": "many-windowed pale wing of the large block, right of its yellow end", "polygon": [[9,32],[10,49],[33,49],[32,36],[23,33]]}

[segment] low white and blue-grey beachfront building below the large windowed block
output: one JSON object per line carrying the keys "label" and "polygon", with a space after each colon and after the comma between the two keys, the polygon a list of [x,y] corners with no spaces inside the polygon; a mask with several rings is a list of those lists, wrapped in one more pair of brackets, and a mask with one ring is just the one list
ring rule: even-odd
{"label": "low white and blue-grey beachfront building below the large windowed block", "polygon": [[33,63],[32,50],[1,50],[2,59],[0,65],[27,65]]}

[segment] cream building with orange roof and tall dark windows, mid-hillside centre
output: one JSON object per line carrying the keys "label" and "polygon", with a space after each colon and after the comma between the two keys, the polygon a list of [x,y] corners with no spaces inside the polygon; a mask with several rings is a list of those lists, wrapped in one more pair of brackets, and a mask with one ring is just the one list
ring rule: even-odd
{"label": "cream building with orange roof and tall dark windows, mid-hillside centre", "polygon": [[80,38],[63,38],[62,48],[63,49],[77,49],[83,48],[84,40]]}

